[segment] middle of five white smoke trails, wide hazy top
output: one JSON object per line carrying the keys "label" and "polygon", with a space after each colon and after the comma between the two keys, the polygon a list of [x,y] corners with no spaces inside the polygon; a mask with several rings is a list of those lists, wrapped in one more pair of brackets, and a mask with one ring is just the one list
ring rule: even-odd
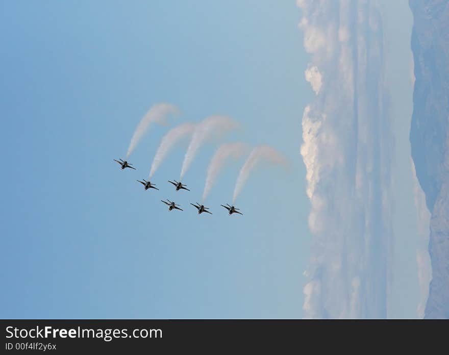
{"label": "middle of five white smoke trails, wide hazy top", "polygon": [[207,140],[213,137],[221,136],[238,127],[238,123],[228,116],[209,116],[199,122],[193,133],[189,147],[184,157],[181,169],[181,177],[187,172],[193,159],[195,158],[198,148]]}

